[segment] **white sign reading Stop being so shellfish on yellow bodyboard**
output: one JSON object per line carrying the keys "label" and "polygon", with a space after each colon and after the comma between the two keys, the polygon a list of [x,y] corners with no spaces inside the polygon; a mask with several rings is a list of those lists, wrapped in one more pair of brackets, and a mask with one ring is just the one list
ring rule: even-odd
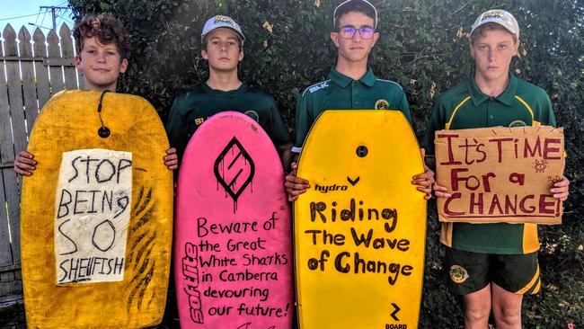
{"label": "white sign reading Stop being so shellfish on yellow bodyboard", "polygon": [[63,153],[55,198],[58,284],[124,279],[131,199],[131,153]]}

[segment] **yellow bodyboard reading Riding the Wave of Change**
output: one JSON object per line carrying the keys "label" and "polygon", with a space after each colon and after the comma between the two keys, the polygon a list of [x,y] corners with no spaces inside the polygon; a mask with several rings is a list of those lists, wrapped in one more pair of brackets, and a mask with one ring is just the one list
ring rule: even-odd
{"label": "yellow bodyboard reading Riding the Wave of Change", "polygon": [[400,111],[324,111],[308,134],[294,205],[299,324],[415,328],[426,201],[420,149]]}

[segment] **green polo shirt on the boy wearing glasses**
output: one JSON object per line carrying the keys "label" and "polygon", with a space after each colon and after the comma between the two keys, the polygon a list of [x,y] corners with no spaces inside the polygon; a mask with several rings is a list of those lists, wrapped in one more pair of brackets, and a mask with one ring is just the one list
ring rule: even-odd
{"label": "green polo shirt on the boy wearing glasses", "polygon": [[369,68],[365,76],[353,80],[334,67],[329,78],[306,88],[296,106],[296,143],[293,152],[300,153],[308,130],[324,110],[402,111],[411,124],[408,99],[399,84],[377,79]]}

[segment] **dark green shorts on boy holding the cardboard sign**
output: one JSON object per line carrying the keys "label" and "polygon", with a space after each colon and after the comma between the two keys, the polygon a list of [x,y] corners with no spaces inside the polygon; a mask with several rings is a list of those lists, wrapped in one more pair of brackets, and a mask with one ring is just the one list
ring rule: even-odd
{"label": "dark green shorts on boy holding the cardboard sign", "polygon": [[466,295],[494,282],[517,294],[536,294],[541,286],[537,252],[525,254],[470,253],[447,247],[444,268],[447,287]]}

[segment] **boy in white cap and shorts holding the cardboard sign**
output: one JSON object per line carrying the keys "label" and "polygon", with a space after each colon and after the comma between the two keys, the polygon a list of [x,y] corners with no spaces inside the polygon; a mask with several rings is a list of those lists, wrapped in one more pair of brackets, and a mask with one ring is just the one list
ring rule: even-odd
{"label": "boy in white cap and shorts holding the cardboard sign", "polygon": [[[552,102],[540,87],[509,71],[518,53],[519,27],[504,10],[482,13],[470,36],[473,76],[438,97],[422,145],[434,154],[434,132],[494,126],[555,126]],[[568,180],[551,189],[566,200]],[[449,197],[434,183],[436,196]],[[487,328],[491,309],[500,328],[521,327],[524,294],[541,287],[535,224],[442,223],[440,242],[446,245],[447,286],[465,303],[465,328]]]}

